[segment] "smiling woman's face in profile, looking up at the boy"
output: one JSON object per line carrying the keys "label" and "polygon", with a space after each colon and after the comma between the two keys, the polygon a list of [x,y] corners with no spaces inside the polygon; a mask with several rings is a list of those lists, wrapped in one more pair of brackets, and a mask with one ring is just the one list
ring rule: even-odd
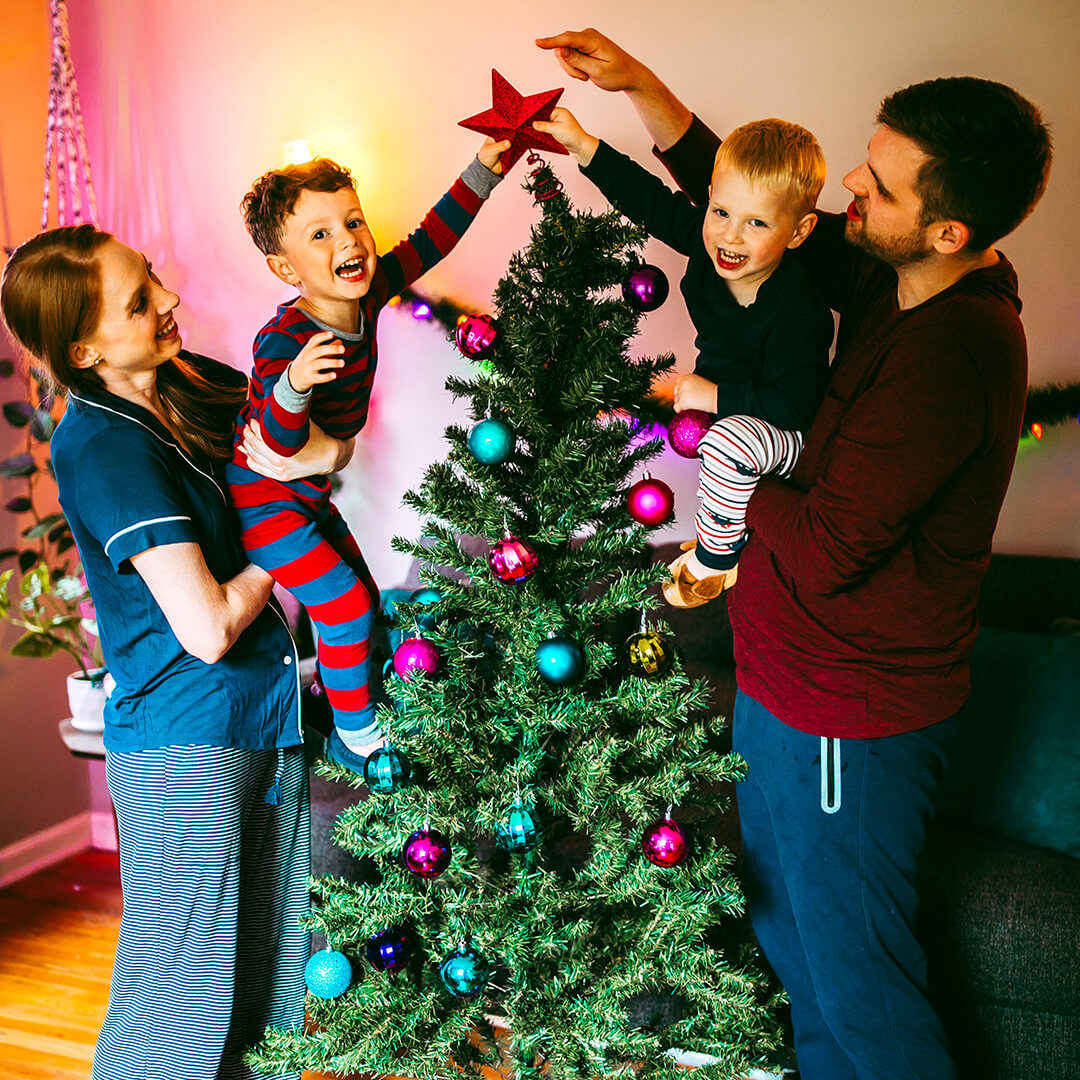
{"label": "smiling woman's face in profile, looking up at the boy", "polygon": [[78,363],[108,384],[160,367],[180,351],[173,309],[180,302],[139,252],[110,239],[97,255],[102,270],[102,319],[80,341]]}

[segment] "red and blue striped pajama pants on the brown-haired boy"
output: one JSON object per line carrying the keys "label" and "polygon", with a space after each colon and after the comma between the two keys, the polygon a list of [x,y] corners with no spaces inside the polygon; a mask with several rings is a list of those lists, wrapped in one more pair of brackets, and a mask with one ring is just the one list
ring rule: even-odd
{"label": "red and blue striped pajama pants on the brown-haired boy", "polygon": [[351,747],[375,742],[382,732],[368,645],[379,590],[349,526],[328,498],[301,499],[232,464],[226,474],[247,557],[303,605],[319,632],[319,672],[338,733]]}

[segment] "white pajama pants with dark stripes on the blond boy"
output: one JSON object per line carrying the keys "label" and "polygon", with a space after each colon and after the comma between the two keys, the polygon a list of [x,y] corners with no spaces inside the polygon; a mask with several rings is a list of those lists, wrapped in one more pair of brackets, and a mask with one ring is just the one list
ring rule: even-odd
{"label": "white pajama pants with dark stripes on the blond boy", "polygon": [[746,504],[766,473],[788,476],[802,453],[802,435],[755,416],[724,416],[698,444],[701,461],[698,545],[729,569],[746,542]]}

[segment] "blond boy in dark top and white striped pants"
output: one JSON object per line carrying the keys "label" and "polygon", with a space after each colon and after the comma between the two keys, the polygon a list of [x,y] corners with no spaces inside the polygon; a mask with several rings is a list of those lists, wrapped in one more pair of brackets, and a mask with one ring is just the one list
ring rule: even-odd
{"label": "blond boy in dark top and white striped pants", "polygon": [[795,468],[800,432],[825,391],[833,318],[786,255],[816,222],[825,159],[798,124],[744,124],[720,144],[704,208],[588,134],[567,109],[536,126],[619,211],[688,257],[680,288],[698,360],[675,382],[675,410],[721,418],[698,448],[698,538],[683,545],[663,592],[670,604],[698,607],[734,583],[754,486],[765,473]]}

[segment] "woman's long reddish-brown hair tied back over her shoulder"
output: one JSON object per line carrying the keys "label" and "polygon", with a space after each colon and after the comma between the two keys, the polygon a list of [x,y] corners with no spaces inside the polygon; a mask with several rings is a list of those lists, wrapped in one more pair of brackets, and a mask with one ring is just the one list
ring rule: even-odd
{"label": "woman's long reddish-brown hair tied back over her shoulder", "polygon": [[[0,311],[35,367],[56,390],[103,390],[90,367],[71,362],[71,346],[102,318],[98,249],[111,234],[92,225],[50,229],[19,245],[0,283]],[[247,392],[198,370],[183,355],[158,369],[158,396],[170,429],[189,454],[228,460],[237,414]]]}

